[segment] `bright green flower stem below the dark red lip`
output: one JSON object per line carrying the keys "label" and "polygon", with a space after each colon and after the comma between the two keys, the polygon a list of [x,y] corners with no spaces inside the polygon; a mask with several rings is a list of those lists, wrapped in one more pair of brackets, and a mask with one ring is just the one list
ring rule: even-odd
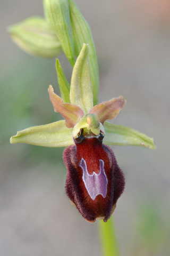
{"label": "bright green flower stem below the dark red lip", "polygon": [[99,221],[99,235],[103,256],[120,256],[113,217],[107,222]]}

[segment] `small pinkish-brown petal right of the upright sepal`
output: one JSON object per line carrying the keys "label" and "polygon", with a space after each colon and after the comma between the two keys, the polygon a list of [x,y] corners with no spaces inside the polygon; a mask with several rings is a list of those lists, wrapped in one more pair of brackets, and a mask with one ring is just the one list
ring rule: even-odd
{"label": "small pinkish-brown petal right of the upright sepal", "polygon": [[90,114],[96,114],[101,124],[108,119],[114,119],[119,111],[125,105],[126,100],[120,96],[109,101],[103,101],[102,103],[94,106],[90,110]]}

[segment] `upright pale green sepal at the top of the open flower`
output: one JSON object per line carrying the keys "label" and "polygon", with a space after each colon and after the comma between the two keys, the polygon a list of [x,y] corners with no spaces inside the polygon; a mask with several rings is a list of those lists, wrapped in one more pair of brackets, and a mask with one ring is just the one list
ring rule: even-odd
{"label": "upright pale green sepal at the top of the open flower", "polygon": [[84,114],[88,114],[93,107],[87,44],[83,44],[73,68],[70,102],[79,106],[84,111]]}

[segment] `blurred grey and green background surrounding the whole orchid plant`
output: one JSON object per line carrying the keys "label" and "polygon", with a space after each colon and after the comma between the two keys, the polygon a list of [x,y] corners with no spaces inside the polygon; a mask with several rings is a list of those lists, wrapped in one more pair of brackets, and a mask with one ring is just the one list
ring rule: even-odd
{"label": "blurred grey and green background surrounding the whole orchid plant", "polygon": [[[126,186],[114,220],[121,255],[168,256],[170,238],[168,0],[75,1],[88,21],[100,69],[99,102],[123,95],[115,119],[155,139],[156,150],[112,147]],[[1,10],[0,254],[101,255],[98,221],[84,221],[65,195],[63,148],[10,145],[16,131],[55,122],[47,88],[59,93],[55,60],[32,57],[9,25],[43,16],[41,0],[6,0]],[[60,55],[70,81],[71,66]]]}

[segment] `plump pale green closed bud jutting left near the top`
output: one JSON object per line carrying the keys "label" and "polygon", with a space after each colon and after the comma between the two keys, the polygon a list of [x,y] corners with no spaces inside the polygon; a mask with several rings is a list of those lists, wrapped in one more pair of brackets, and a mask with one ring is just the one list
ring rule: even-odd
{"label": "plump pale green closed bud jutting left near the top", "polygon": [[53,58],[62,52],[54,30],[40,17],[30,17],[8,28],[13,41],[22,50],[43,58]]}

